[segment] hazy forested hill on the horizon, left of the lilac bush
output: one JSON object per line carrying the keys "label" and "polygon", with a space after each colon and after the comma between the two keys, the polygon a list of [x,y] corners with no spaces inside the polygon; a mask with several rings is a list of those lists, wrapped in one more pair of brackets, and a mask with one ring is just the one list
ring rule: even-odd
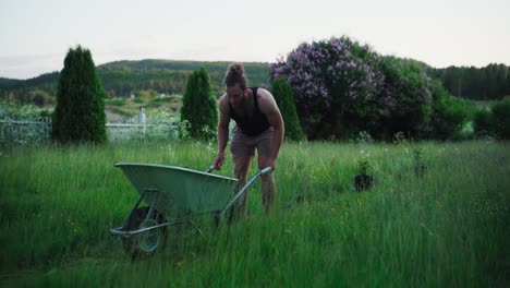
{"label": "hazy forested hill on the horizon, left of the lilac bush", "polygon": [[[212,94],[218,96],[223,88],[221,82],[230,62],[141,60],[116,61],[97,67],[99,77],[109,97],[129,97],[141,91],[159,94],[183,94],[187,76],[204,65],[209,73]],[[243,63],[250,85],[267,86],[269,63]],[[0,77],[0,97],[29,100],[34,91],[54,95],[59,72],[42,74],[29,80]],[[9,96],[10,94],[10,96]]]}

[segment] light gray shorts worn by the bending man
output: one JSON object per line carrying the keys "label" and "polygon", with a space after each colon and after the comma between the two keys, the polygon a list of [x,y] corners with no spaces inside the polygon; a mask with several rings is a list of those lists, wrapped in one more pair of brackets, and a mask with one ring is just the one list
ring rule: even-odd
{"label": "light gray shorts worn by the bending man", "polygon": [[270,157],[272,148],[272,136],[275,129],[269,127],[266,131],[255,136],[244,134],[236,125],[232,133],[232,143],[230,143],[230,152],[232,157],[254,156],[255,148],[259,156]]}

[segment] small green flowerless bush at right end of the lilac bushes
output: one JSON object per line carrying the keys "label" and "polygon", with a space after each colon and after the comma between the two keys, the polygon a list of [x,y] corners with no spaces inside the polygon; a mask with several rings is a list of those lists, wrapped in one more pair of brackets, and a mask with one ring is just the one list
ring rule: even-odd
{"label": "small green flowerless bush at right end of the lilac bushes", "polygon": [[430,93],[433,97],[432,137],[457,139],[467,119],[465,106],[456,101],[438,81],[433,81],[430,84]]}

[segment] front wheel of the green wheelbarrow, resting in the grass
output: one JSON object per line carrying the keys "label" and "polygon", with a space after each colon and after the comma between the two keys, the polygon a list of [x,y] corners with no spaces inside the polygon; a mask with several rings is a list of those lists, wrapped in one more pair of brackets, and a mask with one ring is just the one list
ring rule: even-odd
{"label": "front wheel of the green wheelbarrow, resting in the grass", "polygon": [[[149,207],[141,207],[133,211],[127,218],[124,229],[132,231],[165,223],[165,216],[156,209],[153,212],[153,217],[146,220],[145,218],[148,212]],[[124,251],[126,254],[131,255],[133,260],[153,256],[158,249],[165,245],[166,240],[166,227],[122,238]]]}

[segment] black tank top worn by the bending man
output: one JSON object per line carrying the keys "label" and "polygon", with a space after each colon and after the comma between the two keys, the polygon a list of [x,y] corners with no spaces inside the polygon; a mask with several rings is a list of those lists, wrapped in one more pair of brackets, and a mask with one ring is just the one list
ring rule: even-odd
{"label": "black tank top worn by the bending man", "polygon": [[258,99],[257,99],[258,87],[250,87],[250,88],[253,91],[253,116],[242,117],[240,115],[236,115],[234,109],[232,108],[232,105],[230,105],[230,101],[229,101],[230,118],[235,120],[235,123],[238,124],[239,129],[241,129],[241,131],[243,131],[244,134],[248,136],[255,136],[266,131],[269,127],[271,127],[271,124],[269,124],[267,117],[260,112],[260,109],[258,109]]}

